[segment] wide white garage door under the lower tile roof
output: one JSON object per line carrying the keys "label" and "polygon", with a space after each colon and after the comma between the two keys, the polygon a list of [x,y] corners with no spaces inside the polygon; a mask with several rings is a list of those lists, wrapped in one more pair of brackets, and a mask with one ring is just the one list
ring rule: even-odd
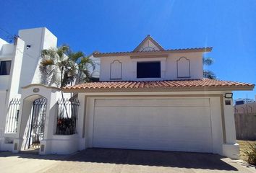
{"label": "wide white garage door under the lower tile roof", "polygon": [[212,152],[209,99],[95,99],[93,147]]}

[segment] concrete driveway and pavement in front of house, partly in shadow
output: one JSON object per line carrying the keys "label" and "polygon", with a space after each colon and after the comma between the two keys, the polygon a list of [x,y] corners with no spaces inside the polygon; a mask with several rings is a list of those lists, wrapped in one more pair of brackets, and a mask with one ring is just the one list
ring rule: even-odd
{"label": "concrete driveway and pavement in front of house, partly in shadow", "polygon": [[256,172],[217,154],[88,148],[72,156],[0,153],[0,172]]}

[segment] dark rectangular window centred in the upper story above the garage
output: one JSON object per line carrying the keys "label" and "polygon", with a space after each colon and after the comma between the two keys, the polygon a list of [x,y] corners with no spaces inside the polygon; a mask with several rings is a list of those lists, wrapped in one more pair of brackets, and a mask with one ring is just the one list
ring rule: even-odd
{"label": "dark rectangular window centred in the upper story above the garage", "polygon": [[137,62],[137,78],[161,78],[161,63]]}

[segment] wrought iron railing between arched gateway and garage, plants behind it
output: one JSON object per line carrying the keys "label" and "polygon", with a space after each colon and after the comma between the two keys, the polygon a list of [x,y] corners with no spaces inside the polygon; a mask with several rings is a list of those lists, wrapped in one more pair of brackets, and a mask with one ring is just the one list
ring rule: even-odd
{"label": "wrought iron railing between arched gateway and garage, plants behind it", "polygon": [[59,99],[57,114],[57,135],[72,135],[77,133],[77,115],[79,101],[77,99]]}

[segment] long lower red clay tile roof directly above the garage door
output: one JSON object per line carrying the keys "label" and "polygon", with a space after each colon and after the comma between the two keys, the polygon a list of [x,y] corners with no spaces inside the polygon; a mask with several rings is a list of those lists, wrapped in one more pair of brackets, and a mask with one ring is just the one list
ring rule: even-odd
{"label": "long lower red clay tile roof directly above the garage door", "polygon": [[98,81],[75,86],[67,86],[64,90],[87,90],[98,89],[192,89],[197,88],[202,91],[218,90],[220,87],[225,90],[252,90],[254,84],[236,81],[219,81],[213,79],[201,80],[176,80],[176,81]]}

